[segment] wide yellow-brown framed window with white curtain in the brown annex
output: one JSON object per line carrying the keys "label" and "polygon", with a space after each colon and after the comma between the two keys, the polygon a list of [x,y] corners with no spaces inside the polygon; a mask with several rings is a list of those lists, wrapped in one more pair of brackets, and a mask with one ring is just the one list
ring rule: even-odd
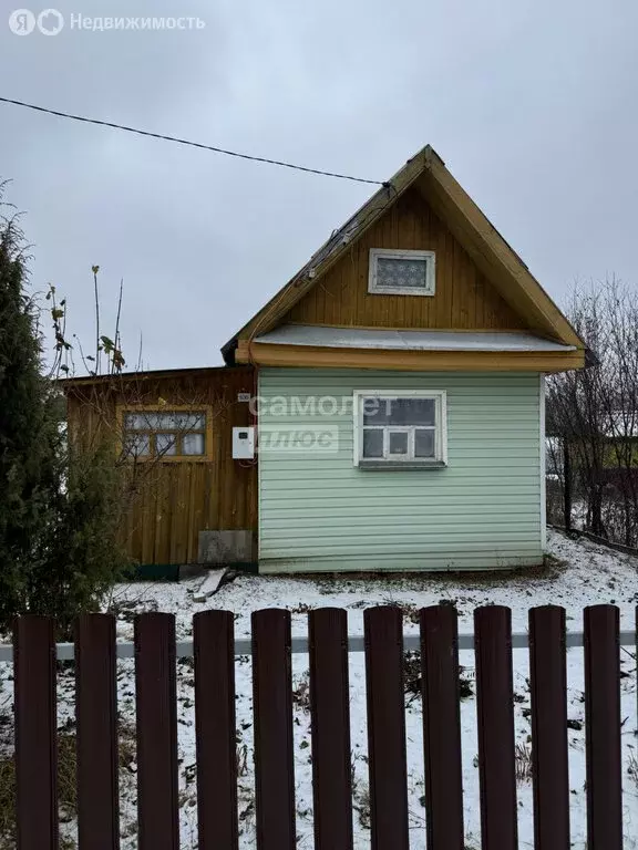
{"label": "wide yellow-brown framed window with white curtain in the brown annex", "polygon": [[131,459],[196,460],[209,452],[205,410],[121,411],[122,450]]}

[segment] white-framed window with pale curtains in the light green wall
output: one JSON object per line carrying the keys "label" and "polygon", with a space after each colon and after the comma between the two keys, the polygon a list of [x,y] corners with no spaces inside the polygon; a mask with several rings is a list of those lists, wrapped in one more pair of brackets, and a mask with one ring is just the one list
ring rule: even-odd
{"label": "white-framed window with pale curtains in the light green wall", "polygon": [[354,393],[354,465],[441,467],[447,463],[443,390]]}

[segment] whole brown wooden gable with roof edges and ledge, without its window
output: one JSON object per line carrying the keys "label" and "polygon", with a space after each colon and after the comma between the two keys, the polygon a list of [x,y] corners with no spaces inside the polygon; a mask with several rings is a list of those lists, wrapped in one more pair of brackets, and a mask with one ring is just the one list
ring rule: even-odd
{"label": "whole brown wooden gable with roof edges and ledge, without its window", "polygon": [[[434,251],[434,294],[369,292],[371,249]],[[352,329],[358,343],[268,339],[295,325]],[[398,352],[371,343],[379,329],[430,339]],[[442,331],[483,335],[438,348],[442,338],[432,334]],[[510,348],[505,332],[517,334]],[[539,353],[546,341],[554,348]],[[408,348],[404,340],[400,348]],[[271,366],[552,372],[585,365],[583,340],[430,146],[382,184],[222,351],[227,363]]]}

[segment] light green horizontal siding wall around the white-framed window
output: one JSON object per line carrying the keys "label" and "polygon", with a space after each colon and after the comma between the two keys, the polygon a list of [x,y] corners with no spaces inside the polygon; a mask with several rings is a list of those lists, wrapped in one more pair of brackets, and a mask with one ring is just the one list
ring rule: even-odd
{"label": "light green horizontal siding wall around the white-framed window", "polygon": [[[446,468],[353,465],[352,392],[401,388],[447,391]],[[538,374],[263,369],[259,395],[260,434],[338,429],[330,454],[260,452],[260,571],[492,569],[542,560]],[[340,410],[312,415],[311,396],[335,396]],[[292,397],[297,412],[308,404],[302,416]],[[343,412],[342,398],[350,402]]]}

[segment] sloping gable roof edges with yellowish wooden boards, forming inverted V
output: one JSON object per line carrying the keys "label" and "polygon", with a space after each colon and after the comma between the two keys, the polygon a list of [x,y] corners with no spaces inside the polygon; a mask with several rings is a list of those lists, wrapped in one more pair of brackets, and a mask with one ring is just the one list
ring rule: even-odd
{"label": "sloping gable roof edges with yellowish wooden boards, forming inverted V", "polygon": [[426,145],[319,248],[308,262],[222,349],[233,362],[239,339],[254,340],[275,329],[346,251],[411,186],[445,221],[476,266],[529,328],[565,345],[585,349],[567,319],[467,193],[439,154]]}

